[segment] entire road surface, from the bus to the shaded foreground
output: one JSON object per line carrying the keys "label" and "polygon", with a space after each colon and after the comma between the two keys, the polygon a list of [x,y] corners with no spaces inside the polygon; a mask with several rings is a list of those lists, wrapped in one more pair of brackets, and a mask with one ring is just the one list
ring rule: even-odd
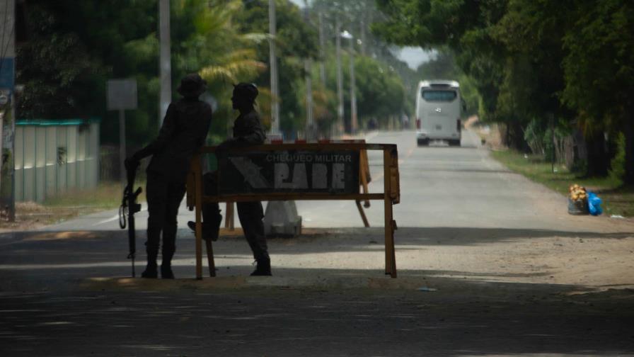
{"label": "entire road surface, from the bus to the shaded foreground", "polygon": [[[462,147],[369,140],[398,144],[398,279],[383,273],[378,201],[370,229],[354,203],[299,202],[313,229],[270,240],[272,278],[245,278],[246,242],[222,237],[219,278],[202,282],[187,229],[180,279],[122,278],[127,237],[102,212],[0,235],[0,356],[634,356],[630,222],[567,215],[471,132]],[[142,229],[143,214],[139,248]]]}

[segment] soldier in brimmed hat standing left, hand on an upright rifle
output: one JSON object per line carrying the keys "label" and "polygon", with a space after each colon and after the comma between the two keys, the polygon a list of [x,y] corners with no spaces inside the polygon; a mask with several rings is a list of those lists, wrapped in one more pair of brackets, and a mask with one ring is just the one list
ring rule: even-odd
{"label": "soldier in brimmed hat standing left, hand on an upright rifle", "polygon": [[198,74],[188,74],[183,78],[177,89],[183,98],[168,107],[159,136],[125,160],[126,169],[135,171],[142,159],[152,156],[146,170],[149,217],[147,266],[141,275],[143,278],[158,277],[156,258],[161,233],[161,278],[174,278],[171,261],[176,250],[176,216],[185,195],[190,162],[204,145],[212,120],[212,108],[198,99],[206,89],[207,83]]}

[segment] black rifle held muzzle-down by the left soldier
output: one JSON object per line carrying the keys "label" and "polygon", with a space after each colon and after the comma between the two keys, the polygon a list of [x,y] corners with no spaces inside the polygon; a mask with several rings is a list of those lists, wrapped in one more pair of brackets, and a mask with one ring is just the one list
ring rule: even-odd
{"label": "black rifle held muzzle-down by the left soldier", "polygon": [[142,192],[140,187],[137,188],[137,191],[132,191],[132,188],[134,187],[134,176],[137,175],[137,166],[138,164],[125,165],[127,185],[123,189],[123,200],[121,202],[121,206],[119,207],[119,227],[121,227],[121,229],[125,229],[127,216],[127,239],[129,246],[127,259],[132,259],[132,278],[134,278],[135,275],[134,254],[137,253],[137,241],[134,233],[134,213],[141,210],[141,204],[137,203],[137,197]]}

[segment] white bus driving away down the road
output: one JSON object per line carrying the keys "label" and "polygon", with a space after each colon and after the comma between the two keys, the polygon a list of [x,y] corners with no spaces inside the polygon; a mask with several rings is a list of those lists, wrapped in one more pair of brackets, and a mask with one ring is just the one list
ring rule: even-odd
{"label": "white bus driving away down the road", "polygon": [[457,81],[420,81],[416,89],[416,140],[429,145],[444,140],[460,146],[463,101]]}

